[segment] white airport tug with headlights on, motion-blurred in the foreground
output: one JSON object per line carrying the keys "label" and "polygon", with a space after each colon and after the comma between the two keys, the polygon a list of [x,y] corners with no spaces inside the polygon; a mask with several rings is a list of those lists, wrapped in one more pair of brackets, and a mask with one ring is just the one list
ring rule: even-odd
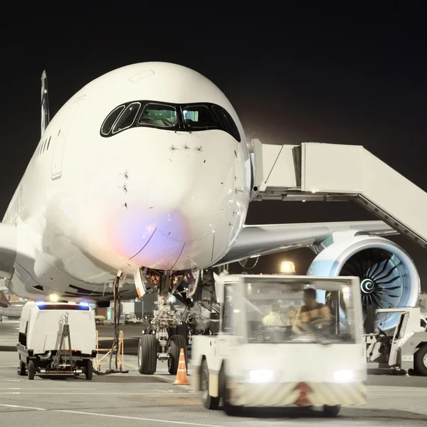
{"label": "white airport tug with headlights on, motion-blurred in the foreground", "polygon": [[[329,319],[298,320],[306,288],[316,290]],[[273,305],[280,310],[270,312]],[[193,385],[206,408],[222,399],[228,415],[296,405],[337,416],[342,405],[366,402],[362,320],[359,278],[216,276],[211,335],[193,337]]]}

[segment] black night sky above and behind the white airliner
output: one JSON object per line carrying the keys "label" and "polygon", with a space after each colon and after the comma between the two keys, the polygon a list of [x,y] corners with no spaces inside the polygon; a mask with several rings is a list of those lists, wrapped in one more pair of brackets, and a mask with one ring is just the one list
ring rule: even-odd
{"label": "black night sky above and behind the white airliner", "polygon": [[[269,144],[362,144],[427,190],[427,37],[424,24],[413,21],[421,11],[338,11],[291,2],[257,9],[205,2],[199,11],[139,4],[117,4],[110,16],[107,3],[55,16],[46,6],[3,16],[1,214],[40,138],[43,69],[53,117],[90,80],[149,60],[186,65],[211,79],[248,137]],[[251,205],[246,222],[373,218],[353,202],[263,201]],[[405,238],[394,240],[427,278],[426,252]],[[309,250],[272,255],[253,271],[272,273],[289,259],[303,274],[313,256]]]}

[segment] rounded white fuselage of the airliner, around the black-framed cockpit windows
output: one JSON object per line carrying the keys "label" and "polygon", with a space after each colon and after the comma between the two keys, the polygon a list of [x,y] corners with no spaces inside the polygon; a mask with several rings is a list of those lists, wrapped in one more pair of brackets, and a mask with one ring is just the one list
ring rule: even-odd
{"label": "rounded white fuselage of the airliner, around the black-framed cockpit windows", "polygon": [[[218,105],[241,140],[150,126],[103,136],[110,112],[132,101]],[[250,186],[241,122],[213,83],[169,63],[102,75],[53,117],[6,211],[19,249],[8,287],[23,297],[53,290],[96,299],[117,270],[206,268],[241,232]]]}

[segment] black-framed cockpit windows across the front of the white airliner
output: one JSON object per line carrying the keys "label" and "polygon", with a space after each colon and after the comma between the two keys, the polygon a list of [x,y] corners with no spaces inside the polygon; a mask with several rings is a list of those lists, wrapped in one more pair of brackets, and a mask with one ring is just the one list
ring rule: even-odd
{"label": "black-framed cockpit windows across the front of the white airliner", "polygon": [[132,127],[155,127],[180,132],[223,130],[241,142],[236,123],[219,105],[208,102],[169,104],[157,101],[133,101],[116,107],[101,126],[102,137],[112,137]]}

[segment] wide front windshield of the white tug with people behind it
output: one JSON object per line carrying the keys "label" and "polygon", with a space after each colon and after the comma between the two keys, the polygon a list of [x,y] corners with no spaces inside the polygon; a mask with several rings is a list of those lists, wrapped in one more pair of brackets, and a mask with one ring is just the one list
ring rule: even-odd
{"label": "wide front windshield of the white tug with people behind it", "polygon": [[258,281],[244,285],[249,342],[354,342],[349,286]]}

